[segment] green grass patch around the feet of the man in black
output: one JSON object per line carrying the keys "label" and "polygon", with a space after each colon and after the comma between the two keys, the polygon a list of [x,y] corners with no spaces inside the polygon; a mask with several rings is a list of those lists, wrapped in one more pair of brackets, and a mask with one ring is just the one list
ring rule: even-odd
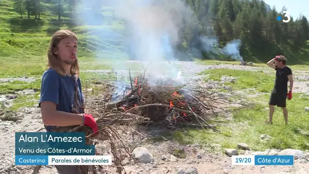
{"label": "green grass patch around the feet of the man in black", "polygon": [[[267,102],[269,95],[259,98]],[[236,109],[233,114],[234,120],[230,123],[234,126],[218,126],[222,132],[211,130],[186,129],[171,133],[174,140],[182,144],[201,145],[216,143],[222,148],[236,149],[240,142],[247,143],[252,150],[264,151],[265,149],[309,149],[309,137],[300,133],[300,130],[308,132],[309,117],[304,110],[309,99],[294,98],[287,102],[289,111],[289,124],[284,124],[281,108],[275,108],[273,125],[265,124],[268,119],[267,104],[258,104],[251,108]],[[272,137],[268,141],[260,140],[260,135],[267,134]]]}

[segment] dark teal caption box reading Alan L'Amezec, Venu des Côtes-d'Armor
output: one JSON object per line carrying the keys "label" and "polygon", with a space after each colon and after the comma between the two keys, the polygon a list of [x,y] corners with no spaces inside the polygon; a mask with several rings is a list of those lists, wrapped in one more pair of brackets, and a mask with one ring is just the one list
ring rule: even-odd
{"label": "dark teal caption box reading Alan L'Amezec, Venu des C\u00f4tes-d'Armor", "polygon": [[84,132],[15,132],[15,155],[95,155]]}

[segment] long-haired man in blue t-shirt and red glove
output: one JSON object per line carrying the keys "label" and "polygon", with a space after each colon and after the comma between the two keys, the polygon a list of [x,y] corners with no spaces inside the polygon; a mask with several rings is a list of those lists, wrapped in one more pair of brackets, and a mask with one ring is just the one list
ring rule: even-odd
{"label": "long-haired man in blue t-shirt and red glove", "polygon": [[[46,131],[60,132],[59,128],[85,125],[97,135],[98,125],[83,107],[75,34],[68,30],[57,31],[51,38],[47,55],[48,69],[42,76],[39,101]],[[82,173],[72,165],[56,168],[60,174]]]}

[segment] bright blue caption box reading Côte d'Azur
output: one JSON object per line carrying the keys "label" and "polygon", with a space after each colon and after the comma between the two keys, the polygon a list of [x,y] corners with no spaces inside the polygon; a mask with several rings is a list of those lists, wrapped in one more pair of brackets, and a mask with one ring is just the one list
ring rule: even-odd
{"label": "bright blue caption box reading C\u00f4te d'Azur", "polygon": [[254,165],[294,165],[293,155],[256,155]]}

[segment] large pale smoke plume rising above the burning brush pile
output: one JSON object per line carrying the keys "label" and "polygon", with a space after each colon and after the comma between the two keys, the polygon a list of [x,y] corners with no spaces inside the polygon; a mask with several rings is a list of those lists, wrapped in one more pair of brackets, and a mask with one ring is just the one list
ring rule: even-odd
{"label": "large pale smoke plume rising above the burning brush pile", "polygon": [[[96,1],[96,4],[99,2]],[[82,0],[81,4],[83,9],[96,6],[88,0]],[[115,21],[125,23],[119,24],[121,29],[117,31],[111,27],[98,27],[95,32],[93,28],[89,29],[89,34],[96,35],[96,40],[102,42],[102,45],[109,44],[105,42],[107,40],[122,40],[116,43],[121,48],[97,46],[98,59],[116,62],[114,60],[119,58],[131,57],[146,62],[144,65],[150,62],[148,73],[177,76],[176,66],[165,60],[177,60],[174,55],[175,46],[180,42],[179,30],[184,23],[190,25],[194,21],[194,14],[189,7],[180,0],[113,0],[101,2],[100,5],[110,9],[111,17],[96,15],[91,10],[81,10],[84,12],[79,18],[83,19],[83,24],[104,23],[108,26],[115,24]],[[115,70],[119,69],[119,66],[126,68],[123,62],[112,65]]]}

